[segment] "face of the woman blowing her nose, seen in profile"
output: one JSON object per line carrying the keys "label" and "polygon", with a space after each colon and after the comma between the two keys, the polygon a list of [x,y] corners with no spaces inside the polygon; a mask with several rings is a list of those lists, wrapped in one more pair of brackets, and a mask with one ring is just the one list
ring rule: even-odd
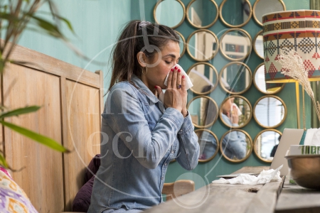
{"label": "face of the woman blowing her nose, seen in profile", "polygon": [[174,67],[180,59],[180,47],[176,41],[170,40],[162,47],[160,53],[156,52],[151,61],[146,61],[148,72],[144,68],[146,74],[142,74],[142,81],[151,91],[154,91],[154,86],[159,86],[161,89],[166,89],[164,80],[166,75]]}

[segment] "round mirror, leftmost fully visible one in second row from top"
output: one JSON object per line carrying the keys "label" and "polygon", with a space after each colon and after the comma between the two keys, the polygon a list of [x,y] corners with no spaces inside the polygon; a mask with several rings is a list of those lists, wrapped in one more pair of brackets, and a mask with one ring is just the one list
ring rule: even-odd
{"label": "round mirror, leftmost fully visible one in second row from top", "polygon": [[215,33],[198,30],[191,33],[187,40],[188,54],[194,60],[208,61],[218,53],[219,43]]}

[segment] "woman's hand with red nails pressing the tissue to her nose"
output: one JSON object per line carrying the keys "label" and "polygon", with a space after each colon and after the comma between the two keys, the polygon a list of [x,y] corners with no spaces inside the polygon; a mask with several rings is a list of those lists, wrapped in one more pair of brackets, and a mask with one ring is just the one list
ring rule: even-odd
{"label": "woman's hand with red nails pressing the tissue to her nose", "polygon": [[[181,88],[177,88],[178,85],[181,85]],[[162,94],[159,86],[156,86],[156,92],[159,96]],[[185,117],[188,113],[186,111],[187,95],[185,77],[181,75],[181,70],[178,67],[172,68],[168,77],[168,86],[164,93],[164,106],[178,109]]]}

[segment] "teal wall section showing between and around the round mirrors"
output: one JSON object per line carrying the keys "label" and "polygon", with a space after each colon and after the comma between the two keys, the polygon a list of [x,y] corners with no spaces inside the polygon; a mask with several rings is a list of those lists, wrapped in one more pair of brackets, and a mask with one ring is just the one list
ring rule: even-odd
{"label": "teal wall section showing between and around the round mirrors", "polygon": [[[188,3],[191,0],[182,0],[183,4],[185,6],[188,6]],[[135,0],[132,1],[135,2],[135,4],[132,4],[132,18],[139,18],[139,1]],[[222,0],[216,0],[215,1],[218,6],[220,6]],[[255,3],[255,0],[250,0],[251,5]],[[153,18],[153,9],[156,4],[156,1],[144,1],[144,13],[146,17],[146,21],[154,21]],[[289,9],[309,9],[309,0],[284,0],[284,4],[287,6],[287,10]],[[218,21],[210,28],[208,28],[210,31],[213,31],[218,38],[223,34],[223,31],[225,31],[228,27],[226,27],[221,21],[220,18]],[[242,27],[245,31],[247,31],[251,38],[255,38],[255,35],[262,30],[262,27],[257,25],[255,21],[253,20],[253,17],[251,18],[250,22],[247,23],[247,25]],[[184,38],[187,40],[188,36],[197,29],[191,26],[190,23],[188,23],[187,20],[183,21],[181,26],[175,29],[176,31],[179,31],[182,33]],[[218,53],[218,55],[213,58],[213,60],[210,61],[211,64],[220,72],[221,68],[227,64],[228,60],[223,58],[223,56]],[[252,50],[252,53],[247,60],[244,61],[249,67],[252,72],[255,71],[255,68],[257,65],[260,65],[260,63],[263,62],[261,58],[259,58],[254,51]],[[193,60],[188,53],[183,55],[181,58],[179,64],[183,67],[184,70],[188,70],[189,67],[191,67],[194,63],[196,63],[195,60]],[[257,99],[262,97],[264,94],[259,92],[255,86],[252,84],[250,89],[242,94],[244,97],[246,97],[249,101],[252,107],[254,106]],[[211,94],[210,97],[213,97],[215,99],[215,102],[217,102],[218,106],[220,107],[221,102],[223,99],[225,99],[225,92],[223,89],[221,89],[220,86],[218,86]],[[284,123],[277,128],[279,131],[283,131],[284,128],[297,128],[297,107],[296,107],[296,96],[295,96],[295,86],[294,84],[286,84],[284,86],[284,89],[282,89],[281,92],[277,94],[280,98],[284,100],[284,102],[287,105],[287,119],[284,121]],[[190,101],[193,97],[196,97],[196,94],[193,94],[189,91],[188,94],[188,100]],[[309,115],[310,112],[310,102],[309,99],[306,99],[306,115]],[[307,120],[307,128],[310,128],[310,121]],[[213,124],[212,128],[210,128],[213,133],[215,133],[216,136],[218,136],[218,139],[220,140],[221,136],[223,136],[223,133],[228,131],[228,128],[223,125],[222,121],[218,119],[218,121]],[[255,136],[257,136],[257,133],[263,130],[262,127],[260,127],[257,122],[252,119],[250,123],[243,128],[243,130],[247,131],[247,133],[250,134],[252,141],[255,139]],[[213,158],[213,160],[210,160],[208,163],[199,163],[198,166],[192,170],[187,171],[181,168],[181,166],[177,163],[170,163],[168,171],[166,173],[166,182],[174,182],[176,180],[180,179],[191,179],[196,182],[196,188],[201,187],[204,184],[210,183],[212,180],[217,179],[216,175],[224,175],[233,173],[235,170],[238,170],[242,168],[243,166],[258,166],[258,165],[270,165],[270,163],[264,163],[262,160],[257,158],[255,153],[252,152],[250,157],[245,160],[242,163],[231,163],[228,160],[225,160],[225,158],[222,157],[220,153]]]}

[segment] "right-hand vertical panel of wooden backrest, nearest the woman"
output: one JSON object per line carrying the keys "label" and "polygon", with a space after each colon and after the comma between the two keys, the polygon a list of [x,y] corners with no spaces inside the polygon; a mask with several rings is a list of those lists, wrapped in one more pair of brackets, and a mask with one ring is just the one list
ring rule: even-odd
{"label": "right-hand vertical panel of wooden backrest, nearest the woman", "polygon": [[83,185],[85,166],[100,153],[100,93],[99,89],[66,81],[67,136],[64,145],[72,150],[65,154],[65,211]]}

